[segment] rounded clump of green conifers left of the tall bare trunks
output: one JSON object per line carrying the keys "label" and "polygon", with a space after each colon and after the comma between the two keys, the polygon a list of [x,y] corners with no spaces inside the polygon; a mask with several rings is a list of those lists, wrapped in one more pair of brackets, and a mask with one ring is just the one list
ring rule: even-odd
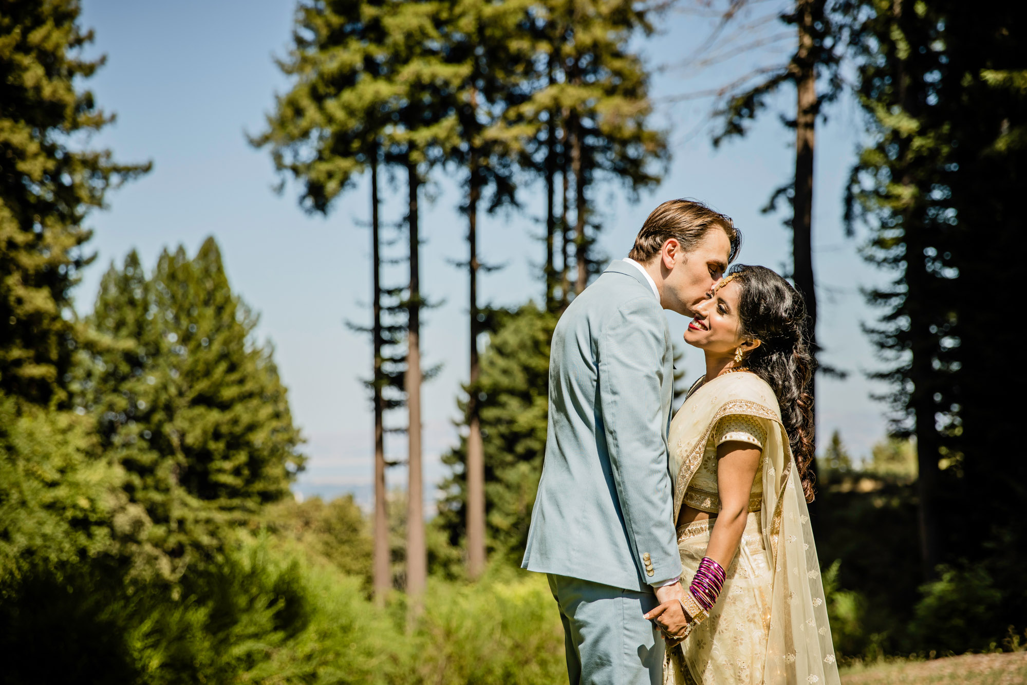
{"label": "rounded clump of green conifers left of the tall bare trunks", "polygon": [[216,547],[234,518],[288,495],[303,466],[256,322],[211,238],[192,260],[165,251],[150,277],[129,254],[105,274],[86,320],[76,411],[96,418],[102,448],[125,469],[124,491],[166,555],[164,575]]}

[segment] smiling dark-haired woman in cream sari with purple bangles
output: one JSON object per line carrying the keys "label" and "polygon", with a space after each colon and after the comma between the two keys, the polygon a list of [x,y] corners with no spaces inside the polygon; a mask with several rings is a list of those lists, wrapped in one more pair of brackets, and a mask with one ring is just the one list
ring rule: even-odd
{"label": "smiling dark-haired woman in cream sari with purple bangles", "polygon": [[[812,359],[801,296],[738,265],[689,324],[707,374],[671,423],[683,623],[664,684],[837,685],[812,500]],[[681,615],[681,612],[671,612]],[[670,614],[669,614],[670,615]],[[678,642],[680,641],[680,642]]]}

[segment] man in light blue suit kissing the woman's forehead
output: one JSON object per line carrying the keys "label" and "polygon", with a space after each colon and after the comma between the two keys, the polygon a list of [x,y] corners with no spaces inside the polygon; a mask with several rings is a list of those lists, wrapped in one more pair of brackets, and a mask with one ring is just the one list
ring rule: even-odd
{"label": "man in light blue suit kissing the woman's forehead", "polygon": [[[645,614],[682,594],[663,309],[694,315],[738,240],[702,203],[663,202],[553,334],[545,459],[521,566],[548,575],[571,685],[661,682],[662,636]],[[676,611],[659,627],[682,625]]]}

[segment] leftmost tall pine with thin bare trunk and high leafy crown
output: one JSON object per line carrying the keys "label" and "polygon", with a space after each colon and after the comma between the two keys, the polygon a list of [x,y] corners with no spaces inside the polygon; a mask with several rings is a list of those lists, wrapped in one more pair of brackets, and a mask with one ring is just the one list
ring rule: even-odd
{"label": "leftmost tall pine with thin bare trunk and high leafy crown", "polygon": [[[385,301],[395,293],[381,281],[382,238],[379,172],[389,98],[395,89],[384,80],[393,65],[383,43],[390,3],[303,2],[297,7],[289,58],[278,62],[293,79],[276,99],[267,130],[251,139],[268,146],[275,166],[303,183],[301,205],[327,215],[355,177],[370,170],[372,324],[372,403],[374,407],[374,587],[379,602],[390,587],[385,489],[385,412],[401,406],[390,388],[403,389],[405,359],[393,351],[405,329],[397,307]],[[340,53],[346,60],[338,60]]]}

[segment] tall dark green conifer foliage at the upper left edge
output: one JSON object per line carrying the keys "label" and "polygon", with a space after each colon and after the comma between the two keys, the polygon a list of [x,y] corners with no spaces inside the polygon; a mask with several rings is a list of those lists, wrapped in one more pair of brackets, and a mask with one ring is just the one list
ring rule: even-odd
{"label": "tall dark green conifer foliage at the upper left edge", "polygon": [[103,59],[77,0],[17,0],[0,12],[0,391],[46,405],[67,398],[75,329],[70,291],[91,261],[86,214],[109,188],[149,169],[78,139],[113,121],[78,90]]}

